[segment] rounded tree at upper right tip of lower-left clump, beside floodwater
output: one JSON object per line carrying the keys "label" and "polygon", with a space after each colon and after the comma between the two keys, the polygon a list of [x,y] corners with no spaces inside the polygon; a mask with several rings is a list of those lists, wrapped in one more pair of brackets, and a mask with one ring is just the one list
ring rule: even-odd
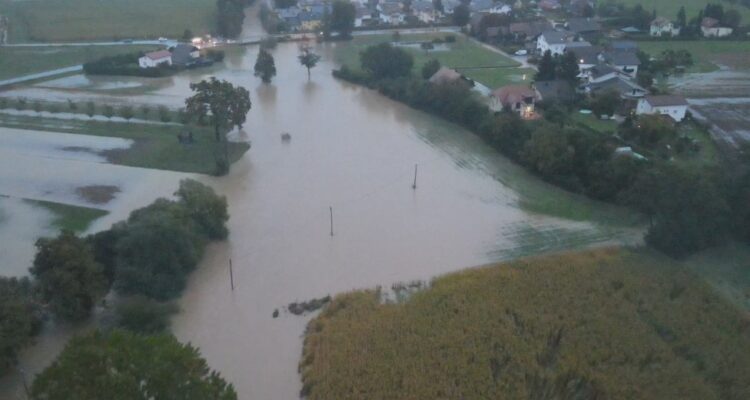
{"label": "rounded tree at upper right tip of lower-left clump, beside floodwater", "polygon": [[211,187],[193,179],[180,181],[180,188],[174,194],[207,238],[226,239],[229,234],[226,227],[229,221],[226,197],[217,195]]}

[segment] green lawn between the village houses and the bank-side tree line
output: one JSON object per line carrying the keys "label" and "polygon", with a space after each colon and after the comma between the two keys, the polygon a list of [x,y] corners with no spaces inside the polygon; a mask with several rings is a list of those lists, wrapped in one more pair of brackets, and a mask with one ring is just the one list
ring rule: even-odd
{"label": "green lawn between the village houses and the bank-side tree line", "polygon": [[[419,43],[432,41],[433,39],[445,38],[445,33],[401,35],[399,43],[414,56],[414,73],[419,74],[422,65],[432,58],[440,61],[440,64],[458,69],[465,76],[482,83],[490,89],[509,83],[522,82],[524,75],[530,80],[534,71],[529,69],[515,68],[520,64],[515,60],[501,54],[487,50],[464,35],[454,35],[454,43],[436,45],[435,50],[428,52],[419,48]],[[336,47],[336,61],[341,65],[359,69],[359,53],[367,46],[378,43],[392,42],[393,35],[366,35],[356,36],[351,42]],[[446,46],[447,49],[441,49]],[[480,68],[484,67],[484,68]],[[495,68],[486,68],[495,67]]]}

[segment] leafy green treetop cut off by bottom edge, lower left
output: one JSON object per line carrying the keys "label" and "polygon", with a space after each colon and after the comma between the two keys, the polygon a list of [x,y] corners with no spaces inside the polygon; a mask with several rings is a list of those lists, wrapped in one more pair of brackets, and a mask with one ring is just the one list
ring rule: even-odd
{"label": "leafy green treetop cut off by bottom edge, lower left", "polygon": [[57,360],[37,376],[34,400],[126,399],[236,400],[237,393],[172,335],[94,331],[71,339]]}

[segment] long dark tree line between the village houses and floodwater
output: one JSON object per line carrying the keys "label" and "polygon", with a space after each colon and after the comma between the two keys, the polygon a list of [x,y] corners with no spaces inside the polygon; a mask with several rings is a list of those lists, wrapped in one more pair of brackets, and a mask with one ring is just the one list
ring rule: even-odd
{"label": "long dark tree line between the village houses and floodwater", "polygon": [[[439,67],[436,61],[424,66],[424,79],[412,76],[411,54],[387,43],[368,47],[360,61],[361,71],[344,66],[334,76],[462,125],[567,190],[643,212],[651,221],[646,242],[666,254],[683,257],[730,237],[750,241],[748,173],[620,156],[615,149],[621,142],[571,123],[564,105],[550,105],[541,121],[523,121],[509,111],[493,113],[463,80],[429,83],[430,72]],[[680,146],[676,134],[649,121],[629,118],[619,135],[644,147],[656,148],[654,138],[661,137],[672,140],[660,142],[661,148]]]}

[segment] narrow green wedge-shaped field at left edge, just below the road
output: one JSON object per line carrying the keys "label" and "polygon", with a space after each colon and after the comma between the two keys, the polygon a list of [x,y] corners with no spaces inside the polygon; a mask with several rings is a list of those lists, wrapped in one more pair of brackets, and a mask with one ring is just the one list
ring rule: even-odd
{"label": "narrow green wedge-shaped field at left edge, just below the road", "polygon": [[0,47],[0,80],[83,64],[156,46]]}

